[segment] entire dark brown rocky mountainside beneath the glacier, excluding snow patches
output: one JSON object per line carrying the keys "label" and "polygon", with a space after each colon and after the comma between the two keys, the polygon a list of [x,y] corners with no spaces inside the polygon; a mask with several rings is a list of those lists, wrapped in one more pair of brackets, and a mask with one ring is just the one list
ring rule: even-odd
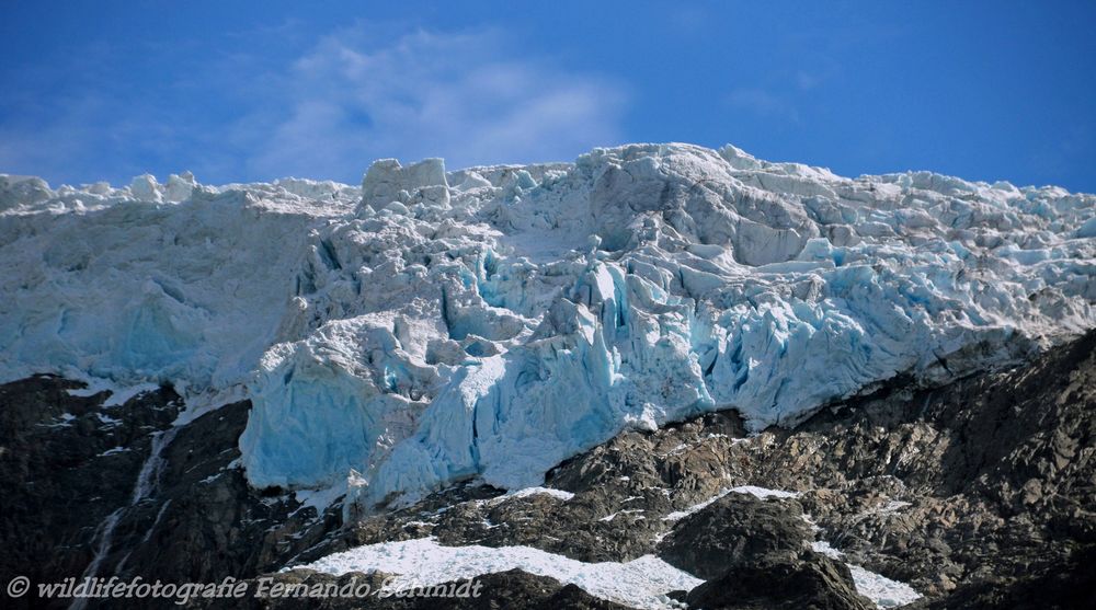
{"label": "entire dark brown rocky mountainside beneath the glacier, excluding snow patches", "polygon": [[[70,395],[79,387],[49,377],[0,387],[4,583],[16,574],[33,582],[88,573],[256,578],[357,544],[433,536],[585,562],[658,554],[707,580],[675,594],[694,608],[864,608],[846,563],[910,584],[924,596],[915,608],[1093,606],[1096,332],[1015,369],[939,388],[897,379],[792,430],[746,437],[726,412],[624,433],[548,474],[546,486],[574,494],[567,499],[509,496],[468,481],[345,525],[338,505],[317,515],[293,494],[248,487],[233,465],[248,403],[173,427],[183,405],[168,388],[104,406],[105,393]],[[741,485],[797,495],[727,493]],[[669,518],[700,503],[709,504]],[[843,555],[811,552],[811,543]],[[292,606],[613,607],[520,572],[484,579],[494,586],[477,600]],[[5,598],[0,606],[68,603]]]}

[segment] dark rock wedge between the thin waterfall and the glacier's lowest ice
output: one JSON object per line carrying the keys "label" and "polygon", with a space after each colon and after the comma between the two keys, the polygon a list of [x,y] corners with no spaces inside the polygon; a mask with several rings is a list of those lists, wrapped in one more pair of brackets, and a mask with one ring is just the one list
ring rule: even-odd
{"label": "dark rock wedge between the thin waterfall and the glacier's lowest ice", "polygon": [[256,495],[243,472],[229,468],[239,458],[236,442],[249,407],[230,404],[179,429],[164,449],[152,502],[127,521],[134,537],[119,576],[212,582],[250,575],[281,567],[341,525],[336,511],[296,511],[292,496]]}

